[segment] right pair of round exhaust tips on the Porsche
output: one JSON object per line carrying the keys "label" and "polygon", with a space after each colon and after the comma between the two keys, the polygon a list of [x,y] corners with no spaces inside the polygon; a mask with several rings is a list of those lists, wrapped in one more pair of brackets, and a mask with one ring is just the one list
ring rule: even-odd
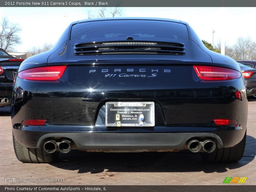
{"label": "right pair of round exhaust tips on the Porsche", "polygon": [[215,150],[216,144],[212,140],[204,140],[203,145],[201,145],[201,143],[196,139],[191,140],[188,143],[188,149],[193,153],[199,152],[202,147],[205,152],[211,153]]}

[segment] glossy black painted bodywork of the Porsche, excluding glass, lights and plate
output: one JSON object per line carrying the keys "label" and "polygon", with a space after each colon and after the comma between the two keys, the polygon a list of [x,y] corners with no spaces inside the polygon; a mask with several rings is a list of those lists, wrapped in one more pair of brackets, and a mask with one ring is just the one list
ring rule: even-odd
{"label": "glossy black painted bodywork of the Porsche, excluding glass, lights and plate", "polygon": [[[241,71],[236,61],[208,50],[187,23],[177,20],[165,21],[187,26],[189,39],[179,42],[189,50],[185,55],[75,56],[73,46],[76,42],[69,39],[72,26],[97,20],[108,19],[72,23],[50,51],[30,57],[21,64],[19,72],[35,67],[67,65],[63,76],[56,81],[39,82],[16,77],[12,94],[12,126],[13,134],[21,145],[39,148],[42,147],[41,141],[54,136],[71,138],[80,150],[111,147],[117,150],[150,149],[153,146],[150,142],[156,144],[155,149],[184,149],[187,140],[194,136],[212,137],[220,148],[232,147],[242,140],[247,122],[243,78],[207,82],[201,80],[193,69],[193,65],[208,65]],[[122,73],[127,68],[135,71],[143,68],[147,76],[152,75],[152,69],[158,69],[158,72],[156,77],[145,78],[119,77],[119,74],[116,78],[105,77],[101,72],[102,69],[115,71],[116,68]],[[96,72],[90,73],[92,69]],[[170,69],[171,73],[165,74],[164,69]],[[235,97],[236,91],[242,93],[242,99]],[[120,100],[154,101],[155,126],[106,127],[105,103]],[[213,123],[215,118],[236,119],[239,125],[216,126]],[[47,119],[47,122],[44,126],[23,126],[21,122],[24,119]],[[120,138],[115,140],[112,133]],[[124,133],[127,141],[124,141]],[[159,144],[163,138],[159,133],[166,134],[168,138],[163,145]],[[149,144],[138,142],[142,138],[145,140],[141,142],[148,141]],[[123,145],[122,141],[125,142]],[[137,145],[129,146],[128,141]]]}

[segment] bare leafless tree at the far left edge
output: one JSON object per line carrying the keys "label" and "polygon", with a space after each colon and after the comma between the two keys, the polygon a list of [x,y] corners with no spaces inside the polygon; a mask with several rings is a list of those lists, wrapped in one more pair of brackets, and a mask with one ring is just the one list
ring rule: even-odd
{"label": "bare leafless tree at the far left edge", "polygon": [[0,48],[7,50],[14,45],[20,44],[20,31],[19,24],[12,24],[6,17],[3,17],[0,28]]}

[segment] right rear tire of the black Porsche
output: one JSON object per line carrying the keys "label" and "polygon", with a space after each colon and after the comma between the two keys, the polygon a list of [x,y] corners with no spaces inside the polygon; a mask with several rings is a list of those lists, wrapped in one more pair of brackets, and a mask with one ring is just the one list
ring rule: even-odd
{"label": "right rear tire of the black Porsche", "polygon": [[244,138],[234,147],[216,148],[211,153],[203,152],[201,157],[208,162],[237,162],[244,154],[246,144],[246,132]]}

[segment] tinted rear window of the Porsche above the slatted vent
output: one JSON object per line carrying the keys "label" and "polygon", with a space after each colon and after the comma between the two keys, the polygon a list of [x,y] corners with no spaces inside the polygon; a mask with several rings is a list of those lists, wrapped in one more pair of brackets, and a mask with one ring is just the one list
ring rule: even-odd
{"label": "tinted rear window of the Porsche above the slatted vent", "polygon": [[76,24],[71,40],[79,42],[126,40],[175,41],[188,40],[186,25],[169,21],[108,20]]}

